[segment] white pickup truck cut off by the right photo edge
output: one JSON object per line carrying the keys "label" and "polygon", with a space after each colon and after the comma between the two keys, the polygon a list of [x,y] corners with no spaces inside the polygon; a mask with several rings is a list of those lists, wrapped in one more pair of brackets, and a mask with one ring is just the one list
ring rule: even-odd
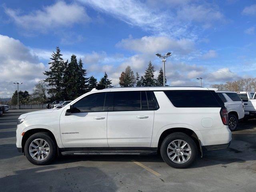
{"label": "white pickup truck cut off by the right photo edge", "polygon": [[244,120],[256,118],[256,97],[254,92],[237,92],[244,102]]}

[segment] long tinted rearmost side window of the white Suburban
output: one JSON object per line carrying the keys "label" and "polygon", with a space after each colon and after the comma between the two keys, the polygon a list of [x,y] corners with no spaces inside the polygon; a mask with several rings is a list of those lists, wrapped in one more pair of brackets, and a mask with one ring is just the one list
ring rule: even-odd
{"label": "long tinted rearmost side window of the white Suburban", "polygon": [[164,93],[175,107],[221,107],[211,91],[174,90]]}

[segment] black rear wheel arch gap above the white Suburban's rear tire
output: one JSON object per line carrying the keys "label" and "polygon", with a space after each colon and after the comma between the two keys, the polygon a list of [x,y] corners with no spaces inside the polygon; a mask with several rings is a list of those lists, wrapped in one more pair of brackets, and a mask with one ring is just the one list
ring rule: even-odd
{"label": "black rear wheel arch gap above the white Suburban's rear tire", "polygon": [[160,135],[160,138],[158,140],[158,152],[160,152],[160,146],[164,140],[164,138],[166,138],[166,136],[172,134],[172,133],[175,133],[175,132],[182,132],[182,133],[185,133],[187,134],[188,136],[190,136],[194,142],[196,143],[196,147],[198,149],[198,152],[201,153],[201,156],[202,156],[202,147],[201,147],[201,144],[200,144],[200,140],[197,136],[197,134],[191,130],[191,129],[188,129],[188,128],[169,128],[167,130],[165,130],[164,132],[162,132],[162,134]]}

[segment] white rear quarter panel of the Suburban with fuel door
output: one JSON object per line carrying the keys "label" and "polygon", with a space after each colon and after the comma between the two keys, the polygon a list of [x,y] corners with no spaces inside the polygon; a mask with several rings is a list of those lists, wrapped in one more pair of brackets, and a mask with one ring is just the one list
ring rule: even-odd
{"label": "white rear quarter panel of the Suburban with fuel door", "polygon": [[[154,128],[152,132],[151,147],[158,146],[158,140],[167,129],[188,128],[193,130],[202,145],[205,145],[204,138],[200,131],[222,129],[224,124],[220,118],[221,108],[176,108],[162,91],[154,92],[160,108],[154,114]],[[206,122],[202,123],[202,120]],[[225,126],[226,128],[226,126]]]}

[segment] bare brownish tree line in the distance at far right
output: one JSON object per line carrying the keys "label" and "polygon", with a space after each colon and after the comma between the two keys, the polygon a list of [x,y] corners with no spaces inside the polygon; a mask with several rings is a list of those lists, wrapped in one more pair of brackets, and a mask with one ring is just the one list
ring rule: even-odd
{"label": "bare brownish tree line in the distance at far right", "polygon": [[256,92],[256,78],[244,78],[236,81],[228,81],[225,84],[213,84],[212,88],[228,91],[252,91]]}

